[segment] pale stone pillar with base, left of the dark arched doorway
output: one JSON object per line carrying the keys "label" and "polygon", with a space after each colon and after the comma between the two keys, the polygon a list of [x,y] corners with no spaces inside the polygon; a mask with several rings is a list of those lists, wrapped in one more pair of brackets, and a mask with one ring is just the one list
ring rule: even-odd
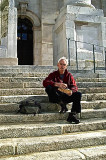
{"label": "pale stone pillar with base, left of the dark arched doorway", "polygon": [[17,9],[14,0],[2,0],[0,65],[17,65]]}

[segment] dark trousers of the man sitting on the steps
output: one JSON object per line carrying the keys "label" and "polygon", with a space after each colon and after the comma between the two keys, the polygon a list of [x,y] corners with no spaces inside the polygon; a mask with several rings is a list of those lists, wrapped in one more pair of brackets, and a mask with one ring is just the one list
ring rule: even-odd
{"label": "dark trousers of the man sitting on the steps", "polygon": [[71,112],[81,113],[81,93],[75,92],[71,96],[58,91],[57,87],[48,85],[46,87],[46,93],[48,94],[49,101],[52,103],[60,103],[61,101],[65,104],[73,102]]}

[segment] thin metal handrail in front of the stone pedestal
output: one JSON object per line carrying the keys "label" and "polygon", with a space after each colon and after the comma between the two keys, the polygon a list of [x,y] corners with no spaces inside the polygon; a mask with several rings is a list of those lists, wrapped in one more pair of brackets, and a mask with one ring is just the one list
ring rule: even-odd
{"label": "thin metal handrail in front of the stone pedestal", "polygon": [[75,42],[75,48],[76,48],[76,68],[77,68],[77,71],[78,71],[78,52],[77,52],[77,49],[78,49],[78,46],[77,46],[77,43],[80,42],[80,43],[85,43],[85,44],[90,44],[93,46],[93,64],[94,64],[94,73],[96,72],[96,67],[95,67],[95,46],[98,46],[98,47],[102,47],[104,52],[105,52],[105,71],[106,71],[106,48],[104,46],[100,46],[100,45],[97,45],[97,44],[93,44],[93,43],[88,43],[88,42],[82,42],[82,41],[76,41],[76,40],[72,40],[70,38],[66,38],[68,40],[68,62],[69,62],[69,66],[70,66],[70,44],[69,44],[69,41],[74,41]]}

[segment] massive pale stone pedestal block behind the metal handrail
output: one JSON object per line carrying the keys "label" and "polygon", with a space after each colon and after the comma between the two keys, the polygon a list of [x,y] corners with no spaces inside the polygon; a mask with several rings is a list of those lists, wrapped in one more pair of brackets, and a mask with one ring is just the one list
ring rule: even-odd
{"label": "massive pale stone pedestal block behind the metal handrail", "polygon": [[[106,46],[105,22],[103,11],[94,7],[67,5],[62,8],[54,27],[54,64],[56,65],[62,55],[68,57],[69,49],[71,65],[75,66],[75,41],[80,41],[77,42],[77,58],[81,66],[86,67],[86,60],[93,62],[93,44],[95,44],[96,61],[103,61],[103,48],[99,46]],[[70,39],[69,46],[67,38]]]}

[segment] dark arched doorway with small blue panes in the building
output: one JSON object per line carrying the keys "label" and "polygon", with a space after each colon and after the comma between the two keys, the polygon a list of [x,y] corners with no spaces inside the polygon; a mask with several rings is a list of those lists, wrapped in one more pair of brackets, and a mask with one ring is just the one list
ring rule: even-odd
{"label": "dark arched doorway with small blue panes in the building", "polygon": [[18,18],[17,56],[18,65],[33,65],[32,23],[27,18]]}

